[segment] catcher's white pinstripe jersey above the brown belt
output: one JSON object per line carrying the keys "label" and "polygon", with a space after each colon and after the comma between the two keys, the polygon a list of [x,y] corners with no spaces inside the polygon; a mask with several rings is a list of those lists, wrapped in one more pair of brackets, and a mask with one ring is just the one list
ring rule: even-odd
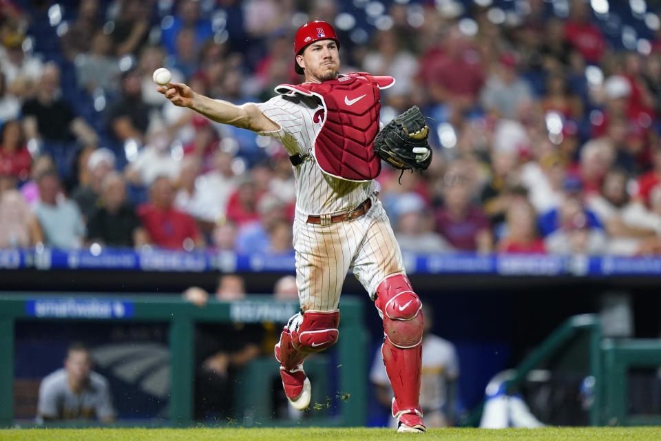
{"label": "catcher's white pinstripe jersey above the brown belt", "polygon": [[[296,181],[296,215],[335,214],[347,212],[364,202],[376,190],[374,181],[354,182],[334,178],[322,172],[312,154],[317,134],[322,129],[322,103],[314,96],[274,96],[258,108],[271,121],[280,125],[275,132],[259,132],[280,139],[289,156],[308,155],[294,167]],[[316,121],[319,121],[315,123]]]}

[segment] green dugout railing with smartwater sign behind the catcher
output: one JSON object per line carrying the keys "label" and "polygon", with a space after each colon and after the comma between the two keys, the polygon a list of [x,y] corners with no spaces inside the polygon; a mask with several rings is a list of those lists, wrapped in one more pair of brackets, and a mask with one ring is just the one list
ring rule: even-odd
{"label": "green dugout railing with smartwater sign behind the catcher", "polygon": [[[273,296],[248,296],[246,300],[235,302],[210,301],[206,307],[197,307],[185,302],[180,296],[134,294],[107,296],[96,293],[43,294],[21,293],[0,294],[0,425],[14,424],[14,345],[15,324],[19,320],[41,320],[65,325],[67,322],[97,320],[101,322],[165,322],[169,325],[169,404],[165,424],[173,427],[186,427],[193,424],[193,370],[195,359],[195,327],[203,322],[271,322],[282,326],[297,311],[295,302],[276,302]],[[295,424],[315,424],[324,426],[363,426],[367,413],[367,362],[368,336],[362,323],[363,306],[355,298],[342,298],[340,304],[340,338],[337,342],[337,365],[324,366],[329,360],[311,360],[311,369],[319,374],[335,369],[337,390],[344,396],[337,400],[335,414],[320,418],[306,418]],[[277,373],[275,358],[270,364],[258,359],[255,365],[246,369],[261,374],[253,387],[246,384],[242,389],[250,396],[243,402],[262,399],[264,376],[267,372]],[[326,369],[327,368],[327,369]],[[264,369],[268,369],[264,372]],[[244,376],[244,378],[250,378]],[[260,380],[260,381],[258,381]],[[319,378],[318,385],[328,384],[326,378]],[[313,382],[313,384],[315,384]],[[313,389],[315,386],[313,386]],[[314,394],[314,390],[313,390]],[[255,404],[255,403],[253,403]],[[286,421],[276,421],[264,409],[251,419],[253,424],[278,425]],[[243,424],[238,421],[238,424]]]}

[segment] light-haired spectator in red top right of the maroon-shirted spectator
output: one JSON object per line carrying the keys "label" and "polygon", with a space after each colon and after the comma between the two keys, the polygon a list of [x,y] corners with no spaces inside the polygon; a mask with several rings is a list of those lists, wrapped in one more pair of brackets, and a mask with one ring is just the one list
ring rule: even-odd
{"label": "light-haired spectator in red top right of the maroon-shirted spectator", "polygon": [[517,200],[507,208],[507,234],[498,243],[503,253],[545,253],[544,241],[537,232],[535,210],[526,201]]}

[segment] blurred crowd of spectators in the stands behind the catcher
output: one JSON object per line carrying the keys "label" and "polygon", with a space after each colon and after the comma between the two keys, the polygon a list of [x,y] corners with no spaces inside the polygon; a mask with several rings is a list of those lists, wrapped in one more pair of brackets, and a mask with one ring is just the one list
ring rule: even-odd
{"label": "blurred crowd of spectators in the stands behind the catcher", "polygon": [[430,117],[430,170],[377,179],[402,249],[661,252],[660,19],[611,3],[2,1],[0,247],[290,254],[282,146],[171,105],[151,72],[266,101],[323,19],[342,72],[397,79],[384,123]]}

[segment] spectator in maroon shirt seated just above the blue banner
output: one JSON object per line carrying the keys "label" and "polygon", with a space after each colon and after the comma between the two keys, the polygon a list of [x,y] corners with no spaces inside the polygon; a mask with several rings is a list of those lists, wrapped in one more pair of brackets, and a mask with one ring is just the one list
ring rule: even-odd
{"label": "spectator in maroon shirt seated just above the blue banner", "polygon": [[489,220],[479,205],[470,201],[468,185],[456,182],[445,188],[444,206],[437,210],[437,230],[461,251],[490,252]]}

